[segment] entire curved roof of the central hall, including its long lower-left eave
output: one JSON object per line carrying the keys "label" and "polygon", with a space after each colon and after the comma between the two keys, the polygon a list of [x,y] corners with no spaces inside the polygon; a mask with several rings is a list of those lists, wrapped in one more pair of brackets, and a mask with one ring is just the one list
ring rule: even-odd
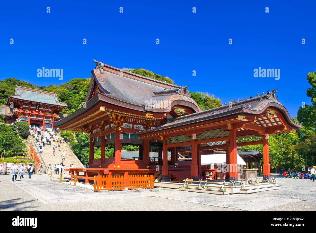
{"label": "entire curved roof of the central hall, including its long lower-left eave", "polygon": [[86,107],[81,107],[64,119],[54,122],[54,125],[67,123],[100,101],[140,112],[167,113],[176,105],[189,107],[192,112],[201,111],[190,97],[187,87],[161,82],[95,62],[97,66],[91,72],[90,86],[85,99]]}

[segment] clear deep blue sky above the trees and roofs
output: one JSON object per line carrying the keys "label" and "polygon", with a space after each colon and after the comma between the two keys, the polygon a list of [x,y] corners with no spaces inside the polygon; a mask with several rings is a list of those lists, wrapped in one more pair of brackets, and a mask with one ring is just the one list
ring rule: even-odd
{"label": "clear deep blue sky above the trees and roofs", "polygon": [[[302,102],[310,104],[315,9],[315,1],[2,1],[0,80],[59,85],[90,78],[95,59],[151,70],[222,102],[277,88],[278,100],[296,116]],[[43,66],[63,68],[64,79],[38,78]],[[280,80],[254,78],[259,66],[279,68]]]}

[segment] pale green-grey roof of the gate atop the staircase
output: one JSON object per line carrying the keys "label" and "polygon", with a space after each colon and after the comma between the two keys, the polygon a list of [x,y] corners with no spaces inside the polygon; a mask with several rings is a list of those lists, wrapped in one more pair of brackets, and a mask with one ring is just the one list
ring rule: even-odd
{"label": "pale green-grey roof of the gate atop the staircase", "polygon": [[16,86],[15,94],[9,95],[9,98],[28,100],[36,103],[51,104],[57,106],[67,106],[58,101],[56,93],[36,90],[28,87]]}

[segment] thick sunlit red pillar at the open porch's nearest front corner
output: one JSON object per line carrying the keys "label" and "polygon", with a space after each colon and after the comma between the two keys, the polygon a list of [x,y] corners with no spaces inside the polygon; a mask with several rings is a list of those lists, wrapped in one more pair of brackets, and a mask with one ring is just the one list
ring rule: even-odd
{"label": "thick sunlit red pillar at the open porch's nearest front corner", "polygon": [[238,181],[236,129],[229,130],[229,181]]}

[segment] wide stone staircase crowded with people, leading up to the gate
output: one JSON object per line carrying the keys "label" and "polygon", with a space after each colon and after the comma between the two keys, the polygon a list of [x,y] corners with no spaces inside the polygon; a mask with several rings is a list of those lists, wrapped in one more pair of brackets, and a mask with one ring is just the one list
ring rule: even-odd
{"label": "wide stone staircase crowded with people, leading up to the gate", "polygon": [[[29,136],[32,137],[32,136]],[[59,134],[57,134],[56,136],[54,135],[55,139],[59,138]],[[37,149],[35,149],[36,151],[38,151],[40,148],[38,146],[38,143],[35,144],[35,139],[33,140],[33,138],[31,138],[31,142],[32,142],[32,146],[36,146]],[[41,144],[42,145],[42,144]],[[57,143],[58,145],[58,143]],[[72,152],[72,150],[70,149],[70,147],[67,145],[67,143],[60,143],[60,151],[58,151],[58,147],[55,148],[55,156],[53,155],[53,142],[52,145],[45,145],[42,147],[42,153],[41,155],[41,159],[43,159],[46,167],[48,167],[49,165],[52,166],[52,168],[54,168],[55,164],[60,164],[62,161],[64,161],[64,164],[66,166],[66,169],[69,169],[69,165],[73,164],[74,167],[76,168],[83,168],[83,164],[80,162],[80,160],[77,158],[77,156]],[[65,160],[61,159],[61,154],[63,153],[63,151],[66,153],[65,156]],[[37,152],[38,153],[38,152]]]}

